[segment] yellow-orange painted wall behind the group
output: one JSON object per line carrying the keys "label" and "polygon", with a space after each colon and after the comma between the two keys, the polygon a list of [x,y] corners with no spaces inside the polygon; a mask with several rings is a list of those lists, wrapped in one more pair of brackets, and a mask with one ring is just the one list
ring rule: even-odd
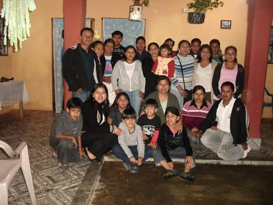
{"label": "yellow-orange painted wall behind the group", "polygon": [[[1,0],[0,0],[1,1]],[[224,7],[208,11],[205,23],[187,23],[186,8],[190,0],[150,0],[144,7],[146,19],[145,37],[147,44],[155,41],[163,43],[173,38],[177,44],[182,39],[199,37],[203,43],[212,38],[221,41],[221,48],[234,45],[238,49],[238,61],[244,63],[247,28],[246,0],[224,0]],[[167,2],[167,3],[166,3]],[[31,36],[16,53],[0,57],[0,75],[13,75],[17,80],[25,80],[29,93],[29,103],[25,109],[52,110],[52,22],[51,18],[63,17],[62,0],[36,0],[36,11],[30,14]],[[87,0],[86,17],[95,18],[95,30],[101,34],[101,18],[128,18],[131,0]],[[220,29],[220,20],[232,20],[231,29]],[[4,58],[6,58],[4,60]],[[11,69],[12,68],[12,71]]]}

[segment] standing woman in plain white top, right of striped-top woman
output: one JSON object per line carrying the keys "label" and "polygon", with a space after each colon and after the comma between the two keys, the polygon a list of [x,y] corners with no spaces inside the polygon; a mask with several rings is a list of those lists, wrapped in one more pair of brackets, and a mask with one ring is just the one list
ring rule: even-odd
{"label": "standing woman in plain white top, right of striped-top woman", "polygon": [[212,77],[217,61],[212,59],[212,49],[204,44],[199,49],[199,55],[194,62],[193,86],[202,85],[205,88],[205,100],[213,102]]}

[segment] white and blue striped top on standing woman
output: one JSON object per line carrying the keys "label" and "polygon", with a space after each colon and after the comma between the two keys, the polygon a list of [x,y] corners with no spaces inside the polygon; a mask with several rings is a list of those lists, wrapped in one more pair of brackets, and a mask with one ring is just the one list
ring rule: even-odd
{"label": "white and blue striped top on standing woman", "polygon": [[[180,60],[180,62],[179,62]],[[194,75],[194,57],[191,55],[188,55],[187,57],[182,57],[180,54],[178,54],[176,57],[174,57],[174,77],[172,79],[172,83],[174,86],[177,86],[180,84],[180,86],[184,88],[183,83],[183,75],[184,75],[184,82],[185,87],[187,90],[193,89],[193,75]],[[181,65],[183,69],[183,75],[181,71]]]}

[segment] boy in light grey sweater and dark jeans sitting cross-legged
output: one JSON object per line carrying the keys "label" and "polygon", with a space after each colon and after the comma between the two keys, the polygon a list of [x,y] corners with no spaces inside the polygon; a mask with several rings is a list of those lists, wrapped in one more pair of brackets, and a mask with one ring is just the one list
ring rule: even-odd
{"label": "boy in light grey sweater and dark jeans sitting cross-legged", "polygon": [[122,121],[119,128],[124,133],[118,137],[119,144],[116,144],[112,151],[123,160],[126,170],[138,174],[138,166],[150,156],[152,149],[144,145],[141,127],[136,125],[136,111],[133,108],[123,111]]}

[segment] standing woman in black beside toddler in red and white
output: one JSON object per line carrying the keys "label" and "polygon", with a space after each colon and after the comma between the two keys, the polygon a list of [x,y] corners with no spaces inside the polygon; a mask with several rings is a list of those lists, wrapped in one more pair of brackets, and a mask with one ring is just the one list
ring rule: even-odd
{"label": "standing woman in black beside toddler in red and white", "polygon": [[159,46],[157,43],[152,42],[148,45],[148,52],[150,53],[150,57],[144,58],[142,61],[142,72],[143,75],[149,83],[145,83],[145,93],[144,99],[152,92],[156,90],[156,80],[158,75],[152,72],[152,67],[154,62],[157,60],[159,55]]}

